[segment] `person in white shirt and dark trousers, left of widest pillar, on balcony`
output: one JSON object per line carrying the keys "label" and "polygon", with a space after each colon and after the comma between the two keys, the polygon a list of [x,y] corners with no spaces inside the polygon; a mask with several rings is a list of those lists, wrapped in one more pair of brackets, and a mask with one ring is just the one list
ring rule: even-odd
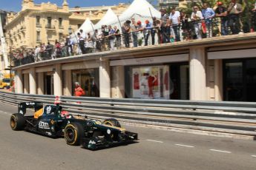
{"label": "person in white shirt and dark trousers, left of widest pillar, on balcony", "polygon": [[176,11],[175,7],[171,8],[169,16],[171,27],[174,30],[175,41],[180,41],[180,12]]}

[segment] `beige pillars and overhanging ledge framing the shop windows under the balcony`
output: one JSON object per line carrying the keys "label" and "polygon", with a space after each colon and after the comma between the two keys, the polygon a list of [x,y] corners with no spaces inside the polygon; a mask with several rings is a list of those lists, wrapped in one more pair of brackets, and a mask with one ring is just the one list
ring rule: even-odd
{"label": "beige pillars and overhanging ledge framing the shop windows under the balcony", "polygon": [[[256,42],[256,34],[243,37],[229,35],[225,38],[93,53],[25,65],[16,68],[16,89],[17,92],[43,94],[43,74],[53,72],[54,95],[72,95],[72,70],[99,69],[100,98],[125,98],[126,66],[188,62],[190,100],[222,101],[223,59],[232,56],[239,58],[240,55],[240,58],[256,58],[256,44],[248,44],[250,36],[252,42]],[[18,84],[23,86],[19,87]]]}

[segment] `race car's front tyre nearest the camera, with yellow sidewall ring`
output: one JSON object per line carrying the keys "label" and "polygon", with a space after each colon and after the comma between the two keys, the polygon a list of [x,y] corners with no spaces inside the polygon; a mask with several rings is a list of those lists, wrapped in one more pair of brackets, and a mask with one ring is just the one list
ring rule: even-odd
{"label": "race car's front tyre nearest the camera, with yellow sidewall ring", "polygon": [[79,146],[83,137],[83,127],[80,123],[72,122],[65,126],[64,137],[68,145]]}

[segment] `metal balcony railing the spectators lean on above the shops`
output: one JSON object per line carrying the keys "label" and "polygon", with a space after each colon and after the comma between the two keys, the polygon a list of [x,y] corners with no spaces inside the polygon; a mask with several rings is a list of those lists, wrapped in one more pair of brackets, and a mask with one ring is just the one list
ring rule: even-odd
{"label": "metal balcony railing the spectators lean on above the shops", "polygon": [[232,33],[234,29],[230,27],[228,19],[223,22],[217,17],[211,20],[211,27],[209,28],[211,35],[209,35],[206,29],[206,22],[208,23],[209,21],[204,19],[191,21],[190,18],[183,18],[181,24],[172,24],[168,27],[160,27],[160,25],[157,24],[154,27],[152,25],[151,27],[129,31],[128,33],[120,29],[118,34],[114,33],[105,36],[96,33],[88,33],[89,35],[84,38],[84,41],[81,41],[82,43],[78,43],[79,38],[77,35],[75,36],[75,41],[71,41],[69,38],[61,38],[59,41],[62,41],[62,43],[58,42],[54,46],[41,44],[38,50],[26,49],[24,47],[13,50],[13,64],[15,67],[19,67],[25,64],[55,58],[71,57],[74,55],[255,32],[256,12],[253,12],[250,16],[251,27],[247,27],[247,24],[243,24],[243,27],[240,25],[240,22],[234,24],[236,25],[237,33]]}

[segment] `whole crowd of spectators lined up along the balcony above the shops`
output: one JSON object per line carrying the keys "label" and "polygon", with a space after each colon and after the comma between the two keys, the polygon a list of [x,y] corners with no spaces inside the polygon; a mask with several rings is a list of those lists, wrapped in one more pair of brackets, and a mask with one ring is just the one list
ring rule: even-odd
{"label": "whole crowd of spectators lined up along the balcony above the shops", "polygon": [[[126,47],[148,46],[148,44],[165,44],[191,39],[211,38],[219,35],[234,35],[246,33],[241,18],[243,7],[232,0],[229,4],[218,1],[215,9],[203,3],[202,9],[195,5],[191,15],[177,8],[171,8],[171,13],[161,9],[161,18],[152,17],[140,21],[135,18],[125,21],[119,30],[116,26],[103,25],[93,33],[79,30],[75,38],[69,35],[55,44],[40,44],[35,49],[21,49],[13,52],[16,66],[32,62],[81,55],[91,52],[119,50]],[[252,19],[249,32],[256,30],[256,3],[251,11]],[[248,24],[248,23],[247,23]],[[121,25],[120,25],[121,26]],[[75,41],[74,41],[75,39]]]}

